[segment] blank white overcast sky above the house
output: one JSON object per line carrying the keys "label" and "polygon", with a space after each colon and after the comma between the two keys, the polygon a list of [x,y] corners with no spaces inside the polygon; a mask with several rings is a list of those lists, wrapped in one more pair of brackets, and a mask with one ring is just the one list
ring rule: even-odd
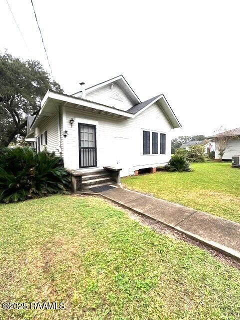
{"label": "blank white overcast sky above the house", "polygon": [[[49,70],[30,0],[0,0],[0,50]],[[33,0],[54,78],[71,94],[123,74],[143,101],[164,93],[182,129],[240,127],[240,2]]]}

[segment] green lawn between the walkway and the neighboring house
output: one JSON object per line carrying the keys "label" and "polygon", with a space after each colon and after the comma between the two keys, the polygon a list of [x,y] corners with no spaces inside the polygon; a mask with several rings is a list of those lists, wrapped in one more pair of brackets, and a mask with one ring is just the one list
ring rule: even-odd
{"label": "green lawn between the walkway and the neighboring house", "polygon": [[122,178],[123,184],[156,197],[240,222],[240,169],[230,162],[193,163],[193,172]]}

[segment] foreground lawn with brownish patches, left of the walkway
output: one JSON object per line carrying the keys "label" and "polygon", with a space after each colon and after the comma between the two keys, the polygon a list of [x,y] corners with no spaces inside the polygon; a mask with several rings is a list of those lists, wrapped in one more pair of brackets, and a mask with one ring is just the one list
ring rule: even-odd
{"label": "foreground lawn with brownish patches, left of the walkway", "polygon": [[[140,177],[141,178],[141,177]],[[161,235],[100,198],[0,205],[0,319],[240,319],[240,271]]]}

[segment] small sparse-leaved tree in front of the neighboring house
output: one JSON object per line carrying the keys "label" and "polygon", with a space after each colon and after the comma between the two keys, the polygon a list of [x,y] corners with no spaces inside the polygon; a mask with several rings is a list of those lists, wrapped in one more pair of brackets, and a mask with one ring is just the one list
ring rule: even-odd
{"label": "small sparse-leaved tree in front of the neighboring house", "polygon": [[[217,133],[216,133],[217,132]],[[232,143],[234,140],[239,139],[239,131],[238,129],[226,130],[221,126],[218,130],[215,131],[215,135],[213,138],[216,142],[215,148],[219,152],[219,160],[220,162],[223,159],[224,153],[226,151],[232,150]]]}

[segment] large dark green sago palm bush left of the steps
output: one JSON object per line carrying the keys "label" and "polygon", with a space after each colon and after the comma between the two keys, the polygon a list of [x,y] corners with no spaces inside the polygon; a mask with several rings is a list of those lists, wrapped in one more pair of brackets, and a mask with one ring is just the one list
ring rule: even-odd
{"label": "large dark green sago palm bush left of the steps", "polygon": [[70,178],[60,156],[30,147],[0,150],[0,202],[67,193]]}

